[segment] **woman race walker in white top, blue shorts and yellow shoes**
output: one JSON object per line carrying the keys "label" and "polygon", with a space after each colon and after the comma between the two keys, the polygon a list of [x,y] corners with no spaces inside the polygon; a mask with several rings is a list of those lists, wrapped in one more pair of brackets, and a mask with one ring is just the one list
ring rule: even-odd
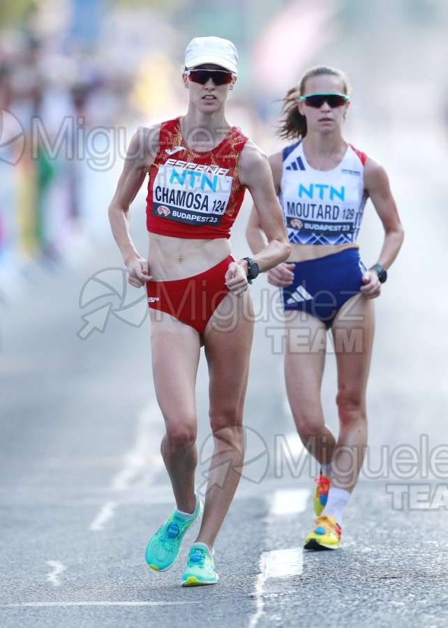
{"label": "woman race walker in white top, blue shorts and yellow shoes", "polygon": [[[269,283],[281,288],[285,310],[288,400],[301,441],[321,467],[314,495],[317,519],[305,541],[311,550],[341,544],[343,508],[367,444],[373,299],[403,242],[386,172],[341,134],[349,106],[345,75],[311,68],[283,100],[279,136],[295,141],[269,158],[291,244],[288,262],[268,273]],[[368,198],[384,227],[384,242],[378,262],[366,270],[356,240]],[[253,252],[262,251],[255,211],[247,239]],[[325,425],[320,400],[328,329],[338,373],[337,438]]]}

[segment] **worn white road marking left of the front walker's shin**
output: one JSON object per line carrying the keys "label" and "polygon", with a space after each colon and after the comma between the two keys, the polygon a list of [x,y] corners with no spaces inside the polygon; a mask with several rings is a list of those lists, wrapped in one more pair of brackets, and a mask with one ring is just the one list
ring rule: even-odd
{"label": "worn white road marking left of the front walker's shin", "polygon": [[[155,401],[151,401],[138,417],[133,449],[124,456],[123,468],[112,478],[110,488],[114,493],[125,493],[130,486],[135,486],[138,477],[142,481],[144,478],[145,484],[151,484],[151,478],[163,467],[162,456],[158,450],[163,430],[160,408]],[[106,502],[91,522],[89,530],[103,531],[106,523],[114,516],[118,505],[119,500]]]}

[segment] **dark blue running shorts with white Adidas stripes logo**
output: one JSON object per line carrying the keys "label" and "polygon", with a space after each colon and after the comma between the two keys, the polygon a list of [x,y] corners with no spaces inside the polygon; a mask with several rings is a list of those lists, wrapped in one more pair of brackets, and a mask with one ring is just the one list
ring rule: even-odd
{"label": "dark blue running shorts with white Adidas stripes logo", "polygon": [[317,260],[295,262],[293,272],[292,284],[280,290],[283,308],[307,312],[329,329],[345,301],[360,292],[366,267],[357,248],[346,248]]}

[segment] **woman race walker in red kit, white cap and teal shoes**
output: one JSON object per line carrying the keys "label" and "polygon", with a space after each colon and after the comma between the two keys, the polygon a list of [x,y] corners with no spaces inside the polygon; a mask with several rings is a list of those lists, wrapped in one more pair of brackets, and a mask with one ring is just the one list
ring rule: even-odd
{"label": "woman race walker in red kit, white cap and teal shoes", "polygon": [[[243,464],[254,324],[248,283],[288,259],[290,244],[267,156],[225,118],[237,82],[236,48],[217,37],[193,39],[182,80],[188,111],[135,134],[109,215],[129,283],[147,289],[154,386],[166,428],[161,451],[176,502],[147,546],[147,564],[156,571],[172,566],[184,534],[202,513],[195,493],[195,382],[202,345],[207,359],[214,454],[202,524],[181,579],[193,586],[218,580],[214,542]],[[147,174],[148,261],[129,231],[130,204]],[[246,189],[268,244],[253,260],[234,260],[230,228]]]}

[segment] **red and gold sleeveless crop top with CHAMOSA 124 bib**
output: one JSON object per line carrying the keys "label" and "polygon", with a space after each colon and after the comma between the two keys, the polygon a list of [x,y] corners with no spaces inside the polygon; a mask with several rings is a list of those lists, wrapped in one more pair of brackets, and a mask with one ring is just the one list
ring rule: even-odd
{"label": "red and gold sleeveless crop top with CHAMOSA 124 bib", "polygon": [[246,190],[238,160],[248,138],[232,127],[214,149],[197,152],[184,141],[179,121],[160,128],[149,167],[147,229],[176,238],[229,238]]}

